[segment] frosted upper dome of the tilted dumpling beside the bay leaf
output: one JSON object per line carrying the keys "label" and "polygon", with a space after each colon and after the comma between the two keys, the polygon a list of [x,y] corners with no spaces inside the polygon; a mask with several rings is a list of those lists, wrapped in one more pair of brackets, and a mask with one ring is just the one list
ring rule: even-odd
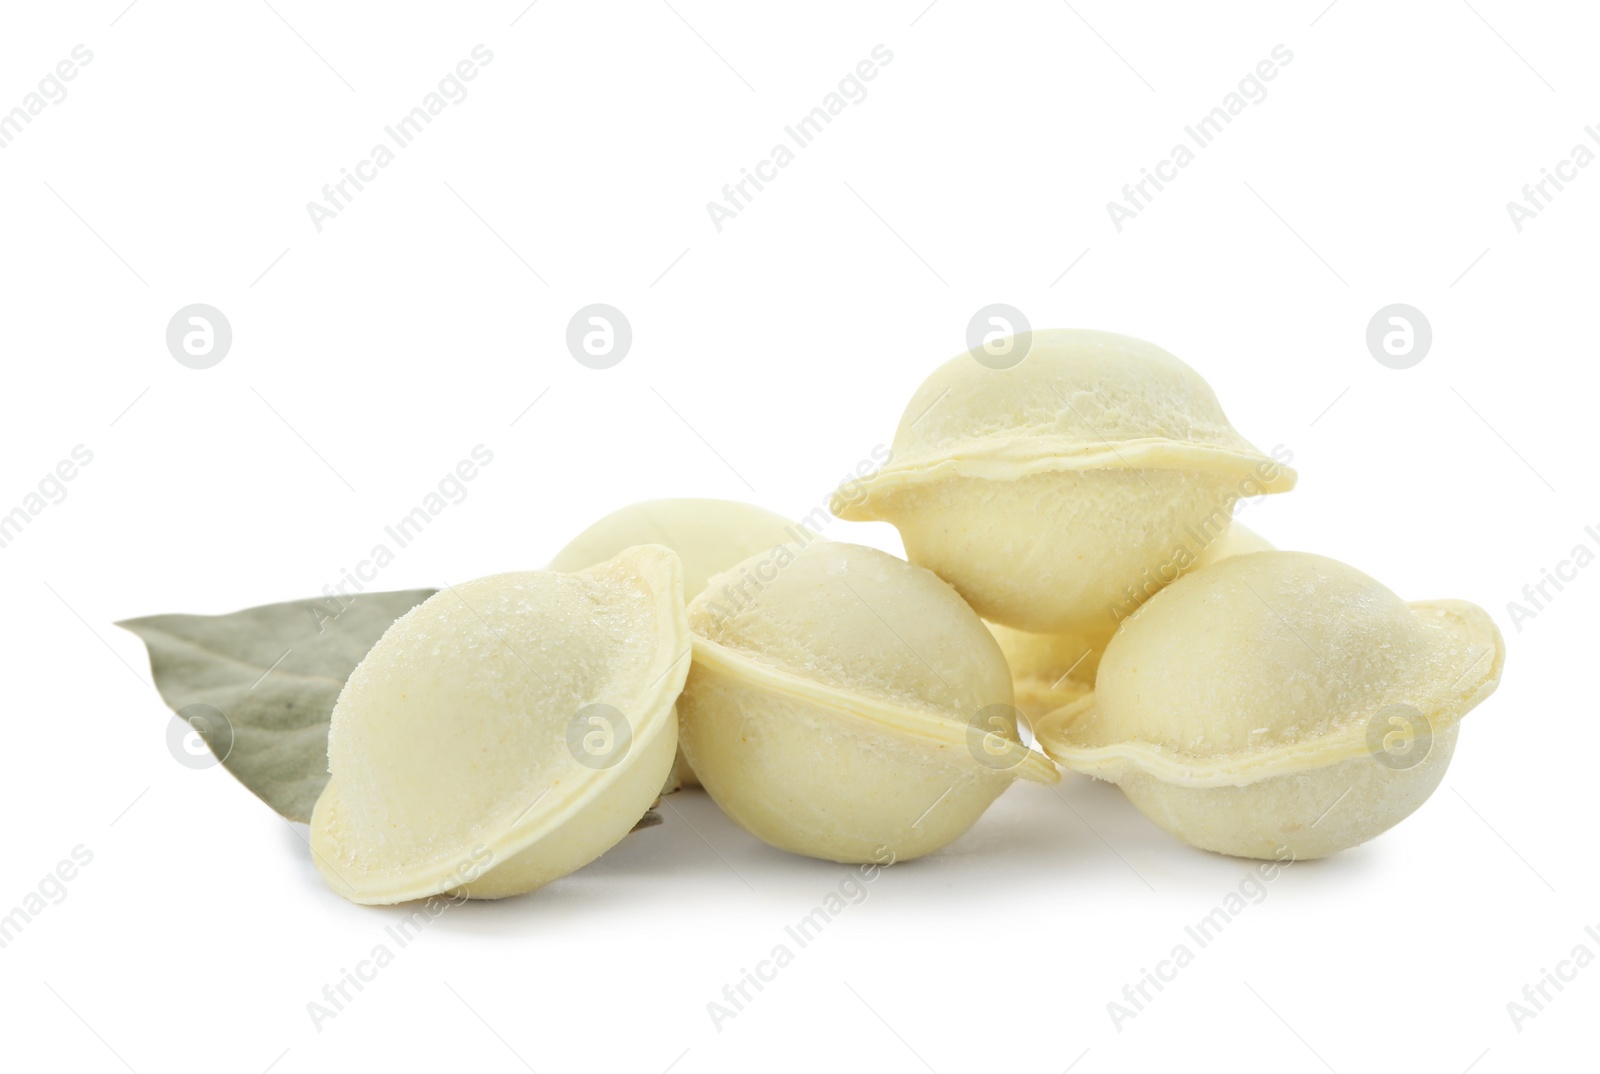
{"label": "frosted upper dome of the tilted dumpling beside the bay leaf", "polygon": [[333,714],[342,864],[453,860],[592,776],[568,725],[589,704],[627,712],[650,688],[666,664],[661,599],[626,570],[523,571],[446,587],[398,619]]}

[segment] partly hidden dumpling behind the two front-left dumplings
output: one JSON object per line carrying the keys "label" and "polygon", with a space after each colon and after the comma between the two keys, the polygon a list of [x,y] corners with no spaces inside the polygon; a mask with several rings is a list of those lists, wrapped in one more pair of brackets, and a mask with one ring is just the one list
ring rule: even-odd
{"label": "partly hidden dumpling behind the two front-left dumplings", "polygon": [[[693,600],[712,575],[805,536],[782,515],[736,499],[646,499],[613,511],[574,536],[550,560],[550,570],[582,570],[635,544],[661,544],[683,560],[683,595]],[[683,751],[664,791],[680,786],[699,786]]]}

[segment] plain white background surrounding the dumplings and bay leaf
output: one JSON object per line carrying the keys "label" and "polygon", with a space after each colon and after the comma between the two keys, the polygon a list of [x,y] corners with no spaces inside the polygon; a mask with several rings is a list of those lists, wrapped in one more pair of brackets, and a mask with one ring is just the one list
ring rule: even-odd
{"label": "plain white background surrounding the dumplings and bay leaf", "polygon": [[[1507,1013],[1600,954],[1600,568],[1507,613],[1600,544],[1600,166],[1520,234],[1506,210],[1600,125],[1586,5],[123,5],[0,27],[0,109],[94,54],[0,150],[0,511],[94,455],[0,549],[0,911],[93,853],[0,951],[6,1066],[1592,1069],[1600,968]],[[318,234],[306,203],[478,43],[470,94]],[[867,98],[718,234],[706,202],[878,43]],[[1278,43],[1269,96],[1118,234],[1106,202]],[[634,328],[606,371],[563,343],[597,301]],[[1288,445],[1299,488],[1248,507],[1280,546],[1490,608],[1504,685],[1434,799],[1288,869],[1120,1029],[1107,1002],[1250,864],[1082,778],[888,871],[720,1029],[707,1002],[846,869],[693,794],[544,892],[450,911],[314,1028],[403,911],[341,901],[302,832],[176,763],[110,623],[317,594],[477,443],[470,496],[374,587],[539,567],[640,498],[805,514],[997,301],[1152,339]],[[232,323],[216,368],[166,352],[190,303]],[[1434,328],[1411,370],[1365,346],[1390,303]]]}

